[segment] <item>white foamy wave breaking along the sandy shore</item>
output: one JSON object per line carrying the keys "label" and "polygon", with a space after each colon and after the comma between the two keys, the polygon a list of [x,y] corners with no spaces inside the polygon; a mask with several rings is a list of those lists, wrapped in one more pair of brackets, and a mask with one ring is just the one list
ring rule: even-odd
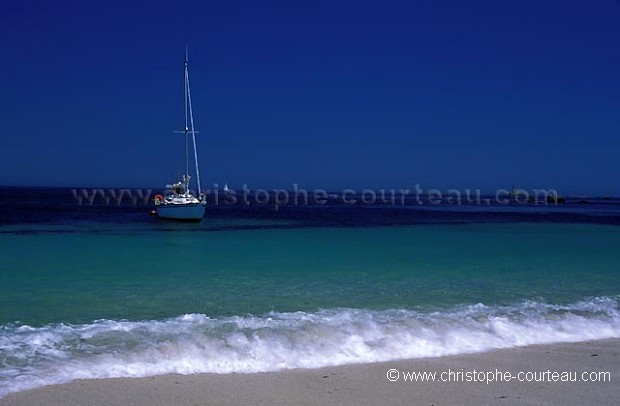
{"label": "white foamy wave breaking along the sandy shore", "polygon": [[314,313],[0,326],[0,397],[74,379],[248,373],[620,337],[620,297],[443,312]]}

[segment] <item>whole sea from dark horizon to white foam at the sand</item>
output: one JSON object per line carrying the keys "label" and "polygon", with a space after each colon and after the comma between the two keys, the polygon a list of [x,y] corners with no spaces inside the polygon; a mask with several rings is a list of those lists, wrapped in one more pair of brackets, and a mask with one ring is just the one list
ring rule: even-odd
{"label": "whole sea from dark horizon to white foam at the sand", "polygon": [[619,199],[78,200],[0,190],[0,397],[620,337]]}

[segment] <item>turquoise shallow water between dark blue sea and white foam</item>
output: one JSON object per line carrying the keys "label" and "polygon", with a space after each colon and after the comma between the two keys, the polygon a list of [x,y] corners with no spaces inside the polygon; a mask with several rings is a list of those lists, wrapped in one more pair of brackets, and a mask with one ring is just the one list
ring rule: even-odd
{"label": "turquoise shallow water between dark blue sea and white foam", "polygon": [[0,235],[0,323],[567,303],[620,293],[620,232],[471,224]]}

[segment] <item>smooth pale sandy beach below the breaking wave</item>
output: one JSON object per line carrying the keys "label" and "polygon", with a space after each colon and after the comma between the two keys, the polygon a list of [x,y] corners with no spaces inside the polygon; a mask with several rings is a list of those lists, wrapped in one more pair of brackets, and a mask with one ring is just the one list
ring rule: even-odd
{"label": "smooth pale sandy beach below the breaking wave", "polygon": [[[394,381],[389,370],[397,371],[390,375]],[[473,381],[497,379],[498,371],[517,378]],[[435,373],[436,381],[411,382],[408,372]],[[469,382],[438,382],[449,372],[455,373],[452,380]],[[553,381],[553,372],[558,380],[572,373],[579,382]],[[586,379],[606,381],[584,382],[584,372]],[[540,377],[546,381],[521,381]],[[618,377],[620,340],[601,340],[273,373],[81,380],[10,394],[0,406],[616,405]]]}

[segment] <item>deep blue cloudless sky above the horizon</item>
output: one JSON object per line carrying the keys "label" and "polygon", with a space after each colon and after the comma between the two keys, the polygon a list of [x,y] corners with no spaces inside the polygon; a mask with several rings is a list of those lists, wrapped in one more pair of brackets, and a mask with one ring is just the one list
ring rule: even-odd
{"label": "deep blue cloudless sky above the horizon", "polygon": [[[130,3],[126,5],[123,3]],[[620,194],[620,2],[9,1],[0,184]]]}

